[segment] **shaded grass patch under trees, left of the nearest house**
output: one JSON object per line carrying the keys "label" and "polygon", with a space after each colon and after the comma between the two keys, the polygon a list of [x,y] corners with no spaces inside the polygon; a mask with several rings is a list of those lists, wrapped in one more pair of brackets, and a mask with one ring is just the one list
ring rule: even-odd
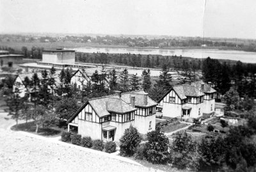
{"label": "shaded grass patch under trees, left of the nearest house", "polygon": [[[14,131],[26,131],[29,133],[36,134],[35,133],[35,131],[36,131],[35,122],[28,122],[28,123],[13,125],[11,129]],[[62,131],[65,131],[65,129],[60,128],[56,125],[52,125],[51,127],[45,127],[45,128],[39,127],[37,134],[40,136],[56,137],[56,136],[60,136]]]}

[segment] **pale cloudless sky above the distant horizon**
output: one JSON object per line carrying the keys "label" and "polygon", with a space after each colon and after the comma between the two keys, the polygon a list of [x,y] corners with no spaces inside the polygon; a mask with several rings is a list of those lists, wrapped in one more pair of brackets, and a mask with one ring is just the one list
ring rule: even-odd
{"label": "pale cloudless sky above the distant horizon", "polygon": [[255,0],[0,0],[0,32],[256,39]]}

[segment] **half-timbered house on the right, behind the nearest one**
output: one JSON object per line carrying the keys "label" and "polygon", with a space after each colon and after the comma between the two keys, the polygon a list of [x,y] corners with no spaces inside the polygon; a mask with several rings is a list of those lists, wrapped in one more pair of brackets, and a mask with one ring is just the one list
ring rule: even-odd
{"label": "half-timbered house on the right, behind the nearest one", "polygon": [[214,112],[216,90],[204,82],[176,85],[159,99],[157,108],[165,117],[182,120]]}

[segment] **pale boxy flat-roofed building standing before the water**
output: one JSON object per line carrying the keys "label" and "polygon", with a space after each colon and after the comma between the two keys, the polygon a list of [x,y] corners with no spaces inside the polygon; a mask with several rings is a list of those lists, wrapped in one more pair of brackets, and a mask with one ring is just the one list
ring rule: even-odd
{"label": "pale boxy flat-roofed building standing before the water", "polygon": [[54,50],[44,50],[43,51],[43,63],[50,64],[74,64],[76,52],[75,50],[63,50],[54,49]]}

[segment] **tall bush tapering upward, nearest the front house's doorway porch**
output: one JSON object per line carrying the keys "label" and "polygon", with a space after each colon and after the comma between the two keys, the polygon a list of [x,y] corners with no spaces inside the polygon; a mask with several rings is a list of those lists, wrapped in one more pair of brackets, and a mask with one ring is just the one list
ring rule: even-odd
{"label": "tall bush tapering upward, nearest the front house's doorway porch", "polygon": [[131,156],[134,154],[135,148],[138,147],[141,141],[140,133],[132,125],[129,129],[125,129],[124,135],[120,138],[120,155]]}

